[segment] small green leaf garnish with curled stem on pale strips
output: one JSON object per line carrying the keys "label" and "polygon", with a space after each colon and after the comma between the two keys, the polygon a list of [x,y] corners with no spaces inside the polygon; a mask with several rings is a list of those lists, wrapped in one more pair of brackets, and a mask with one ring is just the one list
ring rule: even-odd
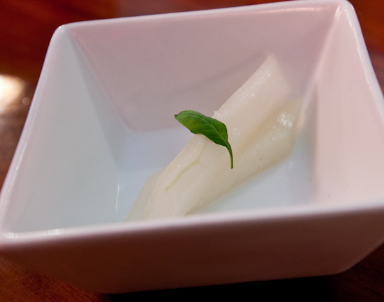
{"label": "small green leaf garnish with curled stem on pale strips", "polygon": [[224,123],[193,110],[175,114],[175,119],[188,128],[191,133],[205,135],[212,142],[225,146],[230,154],[230,168],[233,169],[232,148],[228,142],[227,127]]}

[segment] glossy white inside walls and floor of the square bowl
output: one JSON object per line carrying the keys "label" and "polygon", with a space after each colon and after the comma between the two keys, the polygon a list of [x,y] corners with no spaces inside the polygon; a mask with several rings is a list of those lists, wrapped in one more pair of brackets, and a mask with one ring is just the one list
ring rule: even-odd
{"label": "glossy white inside walls and floor of the square bowl", "polygon": [[304,99],[295,150],[202,212],[383,198],[383,96],[353,9],[293,1],[60,27],[3,189],[3,231],[124,220],[191,137],[173,114],[212,114],[267,54]]}

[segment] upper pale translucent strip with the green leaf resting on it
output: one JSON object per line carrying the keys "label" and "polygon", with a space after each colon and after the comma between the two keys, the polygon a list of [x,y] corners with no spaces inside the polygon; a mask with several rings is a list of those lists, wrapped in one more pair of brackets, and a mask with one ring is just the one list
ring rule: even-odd
{"label": "upper pale translucent strip with the green leaf resting on it", "polygon": [[[214,118],[223,121],[228,128],[232,146],[234,167],[237,160],[255,141],[260,126],[285,103],[290,86],[283,77],[274,56],[269,56],[221,108]],[[214,182],[230,167],[228,151],[195,135],[175,160],[158,177],[149,199],[138,198],[145,206],[135,206],[130,219],[156,219],[184,216],[200,199],[208,195]],[[235,171],[235,169],[233,169]],[[145,186],[142,190],[148,190]],[[147,197],[146,197],[147,198]]]}

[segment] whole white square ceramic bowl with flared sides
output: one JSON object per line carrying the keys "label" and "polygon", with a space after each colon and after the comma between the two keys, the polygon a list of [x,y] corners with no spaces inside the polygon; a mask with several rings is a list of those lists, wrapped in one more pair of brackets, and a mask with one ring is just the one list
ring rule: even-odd
{"label": "whole white square ceramic bowl with flared sides", "polygon": [[[292,156],[202,213],[122,222],[146,177],[274,54]],[[339,273],[384,239],[383,95],[344,0],[80,22],[52,37],[0,200],[0,252],[96,292]]]}

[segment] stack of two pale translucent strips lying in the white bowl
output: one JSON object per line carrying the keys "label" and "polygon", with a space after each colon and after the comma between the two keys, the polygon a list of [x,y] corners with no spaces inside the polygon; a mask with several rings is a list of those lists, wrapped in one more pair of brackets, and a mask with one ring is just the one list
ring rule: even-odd
{"label": "stack of two pale translucent strips lying in the white bowl", "polygon": [[297,107],[284,106],[289,94],[276,58],[268,56],[213,116],[227,126],[234,168],[225,147],[194,135],[149,177],[126,220],[184,216],[288,155]]}

